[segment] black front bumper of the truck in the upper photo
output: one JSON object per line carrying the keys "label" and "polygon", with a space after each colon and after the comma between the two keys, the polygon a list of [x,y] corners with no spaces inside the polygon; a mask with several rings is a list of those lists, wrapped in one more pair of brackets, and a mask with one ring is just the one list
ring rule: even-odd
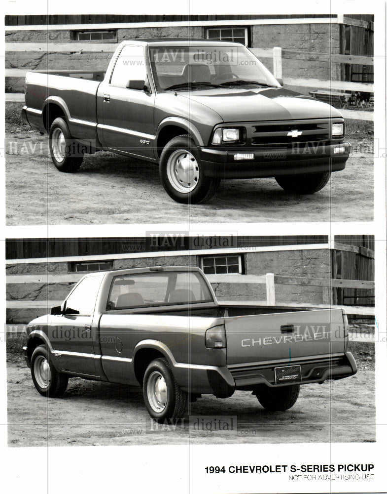
{"label": "black front bumper of the truck in the upper photo", "polygon": [[[335,153],[335,149],[343,152]],[[199,148],[205,174],[215,178],[263,178],[278,175],[294,175],[339,171],[351,152],[349,142],[292,148]],[[253,159],[236,160],[236,154],[253,154]]]}

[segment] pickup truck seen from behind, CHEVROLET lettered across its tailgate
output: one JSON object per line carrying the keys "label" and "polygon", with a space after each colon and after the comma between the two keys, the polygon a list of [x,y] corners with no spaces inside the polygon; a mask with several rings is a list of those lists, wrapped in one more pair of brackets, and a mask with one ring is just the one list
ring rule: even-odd
{"label": "pickup truck seen from behind, CHEVROLET lettered across its tailgate", "polygon": [[197,267],[87,274],[27,333],[24,355],[41,395],[61,396],[73,376],[137,385],[157,421],[183,416],[202,394],[235,390],[284,411],[300,384],[357,371],[341,309],[218,302]]}

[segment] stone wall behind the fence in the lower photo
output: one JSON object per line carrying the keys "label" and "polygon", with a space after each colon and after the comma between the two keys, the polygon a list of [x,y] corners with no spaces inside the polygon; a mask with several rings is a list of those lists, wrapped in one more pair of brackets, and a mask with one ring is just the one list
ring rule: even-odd
{"label": "stone wall behind the fence in the lower photo", "polygon": [[[209,252],[210,254],[211,252]],[[306,276],[330,278],[330,250],[284,250],[270,252],[246,252],[246,274],[263,275],[274,273],[283,276]],[[149,266],[197,266],[196,255],[166,257],[146,257],[117,259],[114,268],[139,268]],[[11,264],[6,274],[69,274],[68,262]],[[69,293],[72,283],[28,283],[7,284],[7,300],[63,300]],[[265,285],[214,284],[219,300],[266,300]],[[276,300],[280,302],[329,303],[330,290],[324,287],[302,287],[296,285],[276,285]],[[8,323],[28,323],[35,317],[44,315],[47,309],[7,309]]]}

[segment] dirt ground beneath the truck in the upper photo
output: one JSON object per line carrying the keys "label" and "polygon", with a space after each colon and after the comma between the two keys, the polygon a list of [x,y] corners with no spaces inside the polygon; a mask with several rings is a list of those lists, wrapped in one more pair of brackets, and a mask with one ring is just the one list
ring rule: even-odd
{"label": "dirt ground beneath the truck in the upper photo", "polygon": [[[359,135],[362,135],[359,133]],[[359,149],[358,139],[349,139]],[[224,180],[205,205],[174,202],[155,165],[99,152],[78,173],[60,173],[47,136],[6,132],[7,225],[270,221],[372,221],[373,155],[360,147],[317,194],[285,193],[274,179]]]}

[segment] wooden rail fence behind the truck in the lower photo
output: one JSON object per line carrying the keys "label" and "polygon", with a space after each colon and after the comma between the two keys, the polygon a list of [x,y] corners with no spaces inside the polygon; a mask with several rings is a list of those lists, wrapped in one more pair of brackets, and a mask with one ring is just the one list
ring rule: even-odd
{"label": "wooden rail fence behind the truck in the lower photo", "polygon": [[[12,284],[27,284],[27,283],[39,283],[39,284],[55,284],[55,283],[69,283],[74,284],[78,282],[84,273],[71,273],[71,274],[45,274],[45,275],[7,275],[6,282]],[[276,285],[296,285],[296,286],[314,286],[314,287],[327,287],[327,288],[363,288],[374,289],[375,283],[373,281],[362,280],[337,280],[330,278],[305,278],[294,276],[282,276],[274,275],[273,273],[267,273],[266,275],[207,275],[210,283],[214,284],[252,284],[252,285],[265,285],[266,286],[266,300],[264,301],[248,301],[249,304],[267,304],[278,305],[285,307],[299,307],[302,308],[340,308],[344,309],[347,314],[358,316],[374,316],[374,307],[361,307],[361,306],[349,306],[349,305],[331,305],[331,304],[311,304],[311,303],[287,303],[278,301],[276,299]],[[7,309],[46,309],[56,305],[61,305],[63,300],[7,300]],[[229,303],[229,302],[227,302]],[[238,304],[239,302],[234,302]]]}

